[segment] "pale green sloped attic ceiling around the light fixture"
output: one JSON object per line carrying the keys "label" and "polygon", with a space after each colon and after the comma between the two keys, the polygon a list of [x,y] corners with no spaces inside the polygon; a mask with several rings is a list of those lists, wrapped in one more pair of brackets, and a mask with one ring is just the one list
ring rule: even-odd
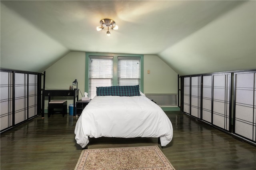
{"label": "pale green sloped attic ceiling around the light fixture", "polygon": [[158,55],[180,75],[256,69],[256,2],[1,1],[1,68],[42,72],[69,51]]}

